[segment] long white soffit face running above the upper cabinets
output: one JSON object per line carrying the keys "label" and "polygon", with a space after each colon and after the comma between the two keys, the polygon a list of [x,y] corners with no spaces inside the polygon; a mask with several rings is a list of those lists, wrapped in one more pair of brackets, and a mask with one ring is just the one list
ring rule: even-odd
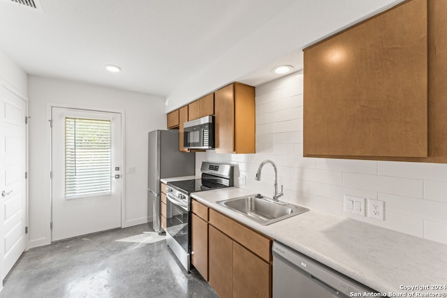
{"label": "long white soffit face running above the upper cabinets", "polygon": [[[402,0],[337,0],[339,7],[346,8],[337,11],[337,13],[331,9],[327,2],[329,1],[295,1],[286,10],[241,40],[240,43],[233,45],[228,52],[207,68],[196,73],[168,94],[166,112],[175,110],[230,82],[244,82],[244,79],[248,78],[247,74],[253,70],[269,64],[271,61],[276,61],[280,57],[284,57],[288,61],[291,59],[289,55],[294,51],[301,50],[309,43],[338,31],[347,24],[357,22],[365,15],[374,15],[376,10],[394,6]],[[314,22],[312,27],[309,27],[308,20],[312,19],[324,21]],[[295,69],[300,69],[302,63],[293,66]],[[254,77],[249,78],[253,79]]]}

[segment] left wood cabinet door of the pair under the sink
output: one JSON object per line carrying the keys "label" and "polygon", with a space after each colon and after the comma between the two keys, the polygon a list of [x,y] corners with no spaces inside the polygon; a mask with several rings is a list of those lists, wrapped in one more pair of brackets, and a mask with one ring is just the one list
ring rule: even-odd
{"label": "left wood cabinet door of the pair under the sink", "polygon": [[233,297],[233,240],[210,225],[209,282],[221,298]]}

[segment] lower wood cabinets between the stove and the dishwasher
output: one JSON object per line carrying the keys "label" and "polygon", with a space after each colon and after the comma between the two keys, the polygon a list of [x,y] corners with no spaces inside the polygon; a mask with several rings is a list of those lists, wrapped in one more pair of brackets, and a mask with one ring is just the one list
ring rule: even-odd
{"label": "lower wood cabinets between the stove and the dishwasher", "polygon": [[219,297],[272,297],[272,239],[191,204],[191,263]]}

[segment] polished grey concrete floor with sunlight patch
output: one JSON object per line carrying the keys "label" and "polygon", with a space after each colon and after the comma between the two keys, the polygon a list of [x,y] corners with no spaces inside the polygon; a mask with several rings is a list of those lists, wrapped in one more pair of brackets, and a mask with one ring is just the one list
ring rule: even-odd
{"label": "polished grey concrete floor with sunlight patch", "polygon": [[166,245],[119,242],[148,224],[68,239],[26,251],[3,281],[0,298],[217,297],[186,273]]}

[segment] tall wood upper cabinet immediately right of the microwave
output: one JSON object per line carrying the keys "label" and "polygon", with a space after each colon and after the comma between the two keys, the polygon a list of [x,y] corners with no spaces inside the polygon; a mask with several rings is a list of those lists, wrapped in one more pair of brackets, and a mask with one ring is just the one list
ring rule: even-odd
{"label": "tall wood upper cabinet immediately right of the microwave", "polygon": [[214,92],[217,153],[256,152],[254,87],[233,83]]}

